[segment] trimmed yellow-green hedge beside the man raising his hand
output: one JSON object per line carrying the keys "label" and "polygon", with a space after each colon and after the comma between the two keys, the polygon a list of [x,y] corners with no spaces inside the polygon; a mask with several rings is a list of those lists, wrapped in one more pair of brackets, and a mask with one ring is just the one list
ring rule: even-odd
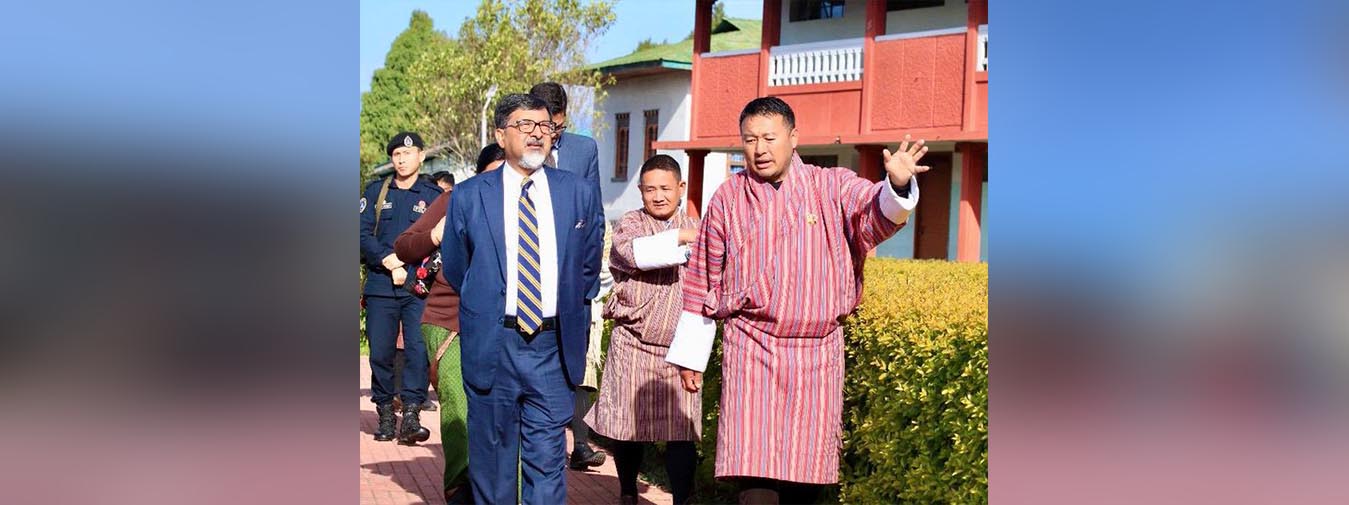
{"label": "trimmed yellow-green hedge beside the man raising his hand", "polygon": [[[862,304],[844,325],[840,482],[822,502],[987,501],[987,263],[867,261]],[[703,378],[699,504],[735,502],[735,487],[714,477],[720,342],[718,328]],[[662,444],[646,459],[643,477],[666,486]]]}

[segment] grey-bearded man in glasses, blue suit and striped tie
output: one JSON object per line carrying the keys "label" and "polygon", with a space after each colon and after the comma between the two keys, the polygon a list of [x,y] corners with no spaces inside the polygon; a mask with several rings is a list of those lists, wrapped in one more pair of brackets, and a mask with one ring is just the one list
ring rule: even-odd
{"label": "grey-bearded man in glasses, blue suit and striped tie", "polygon": [[[567,435],[584,374],[604,224],[590,184],[546,167],[548,105],[496,105],[500,170],[455,188],[441,242],[460,294],[468,478],[478,504],[564,504]],[[517,469],[523,486],[517,486]]]}

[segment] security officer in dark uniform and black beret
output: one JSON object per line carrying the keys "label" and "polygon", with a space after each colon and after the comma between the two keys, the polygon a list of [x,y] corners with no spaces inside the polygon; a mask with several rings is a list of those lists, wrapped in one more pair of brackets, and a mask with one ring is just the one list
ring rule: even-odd
{"label": "security officer in dark uniform and black beret", "polygon": [[[426,159],[420,135],[399,132],[384,149],[394,173],[366,186],[360,198],[360,255],[366,266],[366,335],[370,338],[371,400],[379,413],[375,440],[393,440],[394,394],[402,400],[402,427],[398,442],[415,444],[430,437],[421,425],[421,404],[426,401],[426,343],[421,336],[421,315],[426,302],[403,289],[407,270],[394,255],[394,240],[411,225],[441,189],[418,177]],[[394,392],[394,347],[403,331],[402,392]]]}

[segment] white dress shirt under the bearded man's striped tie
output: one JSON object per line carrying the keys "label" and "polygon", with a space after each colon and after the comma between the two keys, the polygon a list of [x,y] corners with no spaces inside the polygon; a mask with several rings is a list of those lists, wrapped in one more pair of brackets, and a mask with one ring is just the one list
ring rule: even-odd
{"label": "white dress shirt under the bearded man's striped tie", "polygon": [[[515,315],[515,304],[519,298],[519,289],[515,284],[519,280],[519,188],[525,185],[525,176],[515,171],[510,163],[502,163],[502,215],[506,216],[506,315]],[[529,186],[529,198],[534,203],[534,217],[538,219],[538,281],[542,282],[544,313],[540,317],[557,316],[557,228],[553,227],[553,198],[548,190],[548,177],[542,169],[534,171],[529,178],[534,181]]]}

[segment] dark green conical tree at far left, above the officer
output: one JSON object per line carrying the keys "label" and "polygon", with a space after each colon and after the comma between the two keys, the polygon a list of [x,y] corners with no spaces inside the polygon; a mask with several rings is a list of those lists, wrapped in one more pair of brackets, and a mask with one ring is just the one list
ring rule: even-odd
{"label": "dark green conical tree at far left, above the officer", "polygon": [[422,53],[448,43],[449,38],[436,31],[426,12],[413,11],[407,30],[394,39],[384,55],[384,66],[371,76],[370,90],[360,96],[362,181],[370,169],[387,158],[384,143],[389,138],[417,127],[418,107],[407,70]]}

